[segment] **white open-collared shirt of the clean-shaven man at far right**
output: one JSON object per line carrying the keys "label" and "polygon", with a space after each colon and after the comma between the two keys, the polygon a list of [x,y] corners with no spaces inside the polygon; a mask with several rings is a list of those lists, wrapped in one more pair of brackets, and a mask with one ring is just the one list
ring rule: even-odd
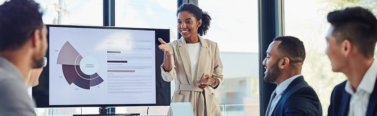
{"label": "white open-collared shirt of the clean-shaven man at far right", "polygon": [[365,116],[368,108],[369,97],[373,92],[377,77],[377,62],[373,60],[371,67],[365,72],[359,86],[354,91],[347,80],[345,90],[351,95],[349,100],[348,116]]}

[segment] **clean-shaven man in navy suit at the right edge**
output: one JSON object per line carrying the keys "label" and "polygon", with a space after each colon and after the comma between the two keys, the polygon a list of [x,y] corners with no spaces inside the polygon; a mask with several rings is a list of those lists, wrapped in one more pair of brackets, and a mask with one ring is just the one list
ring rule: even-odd
{"label": "clean-shaven man in navy suit at the right edge", "polygon": [[368,9],[354,7],[330,12],[327,21],[325,53],[333,71],[348,78],[331,93],[328,116],[376,116],[377,19]]}

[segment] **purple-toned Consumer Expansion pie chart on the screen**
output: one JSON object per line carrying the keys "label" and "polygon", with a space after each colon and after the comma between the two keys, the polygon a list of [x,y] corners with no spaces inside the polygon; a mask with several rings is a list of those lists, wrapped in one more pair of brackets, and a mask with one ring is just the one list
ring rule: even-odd
{"label": "purple-toned Consumer Expansion pie chart on the screen", "polygon": [[100,55],[92,51],[79,53],[68,41],[60,49],[57,64],[61,64],[64,78],[69,85],[74,83],[89,90],[103,82],[100,76],[103,69]]}

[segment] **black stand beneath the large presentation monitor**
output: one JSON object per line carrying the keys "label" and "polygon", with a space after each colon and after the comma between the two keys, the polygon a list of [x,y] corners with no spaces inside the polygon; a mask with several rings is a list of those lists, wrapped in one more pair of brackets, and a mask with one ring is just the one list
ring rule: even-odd
{"label": "black stand beneath the large presentation monitor", "polygon": [[98,113],[93,114],[69,114],[69,116],[139,116],[140,113],[115,114],[115,107],[100,107]]}

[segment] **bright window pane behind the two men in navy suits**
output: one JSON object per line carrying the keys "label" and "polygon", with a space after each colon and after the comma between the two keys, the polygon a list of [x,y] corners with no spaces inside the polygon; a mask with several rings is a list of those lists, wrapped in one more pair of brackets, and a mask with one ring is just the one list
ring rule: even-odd
{"label": "bright window pane behind the two men in navy suits", "polygon": [[346,80],[343,73],[334,73],[325,54],[325,36],[330,24],[329,12],[346,7],[362,6],[377,13],[377,0],[284,0],[285,35],[303,41],[306,59],[302,75],[317,92],[323,115],[327,115],[331,92]]}

